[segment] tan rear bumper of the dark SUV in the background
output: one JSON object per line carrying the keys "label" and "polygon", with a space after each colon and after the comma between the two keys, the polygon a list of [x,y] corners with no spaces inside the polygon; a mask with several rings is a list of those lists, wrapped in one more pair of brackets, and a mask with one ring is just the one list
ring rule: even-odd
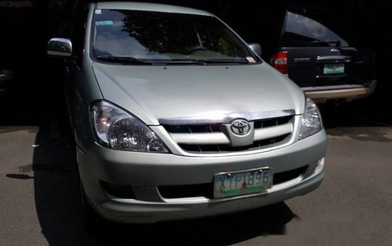
{"label": "tan rear bumper of the dark SUV in the background", "polygon": [[370,85],[337,85],[301,88],[315,103],[326,103],[328,100],[342,99],[353,101],[370,96],[375,90],[376,80]]}

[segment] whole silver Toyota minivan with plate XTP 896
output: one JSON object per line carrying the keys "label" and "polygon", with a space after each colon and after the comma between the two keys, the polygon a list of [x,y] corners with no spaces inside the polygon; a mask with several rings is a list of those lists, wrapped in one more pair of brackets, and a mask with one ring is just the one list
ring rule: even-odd
{"label": "whole silver Toyota minivan with plate XTP 896", "polygon": [[239,212],[324,177],[320,112],[213,14],[92,3],[63,57],[84,206],[124,223]]}

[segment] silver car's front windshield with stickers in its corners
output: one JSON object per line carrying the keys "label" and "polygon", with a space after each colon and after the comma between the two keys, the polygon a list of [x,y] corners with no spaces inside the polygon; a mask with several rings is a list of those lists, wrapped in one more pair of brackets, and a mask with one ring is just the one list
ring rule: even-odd
{"label": "silver car's front windshield with stickers in its corners", "polygon": [[[106,61],[215,61],[259,59],[215,17],[136,10],[95,10],[92,54]],[[109,59],[108,59],[109,58]],[[111,60],[110,60],[111,59]],[[130,61],[130,59],[126,59]]]}

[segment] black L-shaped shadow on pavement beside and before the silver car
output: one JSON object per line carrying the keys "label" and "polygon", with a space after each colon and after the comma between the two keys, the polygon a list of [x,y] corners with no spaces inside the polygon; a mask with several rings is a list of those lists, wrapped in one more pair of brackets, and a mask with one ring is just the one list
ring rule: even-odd
{"label": "black L-shaped shadow on pavement beside and before the silver car", "polygon": [[[35,204],[42,233],[50,245],[230,245],[257,236],[285,234],[293,219],[285,203],[248,212],[153,225],[123,225],[102,221],[84,227],[79,201],[75,146],[66,136],[37,134],[32,169]],[[21,177],[28,178],[28,177]]]}

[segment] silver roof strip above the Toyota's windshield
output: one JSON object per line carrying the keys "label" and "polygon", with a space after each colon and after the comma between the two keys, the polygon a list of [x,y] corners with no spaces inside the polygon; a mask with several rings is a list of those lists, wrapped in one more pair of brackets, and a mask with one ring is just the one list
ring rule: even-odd
{"label": "silver roof strip above the Toyota's windshield", "polygon": [[97,9],[105,10],[141,10],[141,11],[156,11],[156,12],[170,12],[178,14],[197,14],[211,16],[209,12],[204,10],[196,10],[194,8],[186,8],[180,6],[172,6],[159,3],[138,3],[138,2],[100,2],[97,3]]}

